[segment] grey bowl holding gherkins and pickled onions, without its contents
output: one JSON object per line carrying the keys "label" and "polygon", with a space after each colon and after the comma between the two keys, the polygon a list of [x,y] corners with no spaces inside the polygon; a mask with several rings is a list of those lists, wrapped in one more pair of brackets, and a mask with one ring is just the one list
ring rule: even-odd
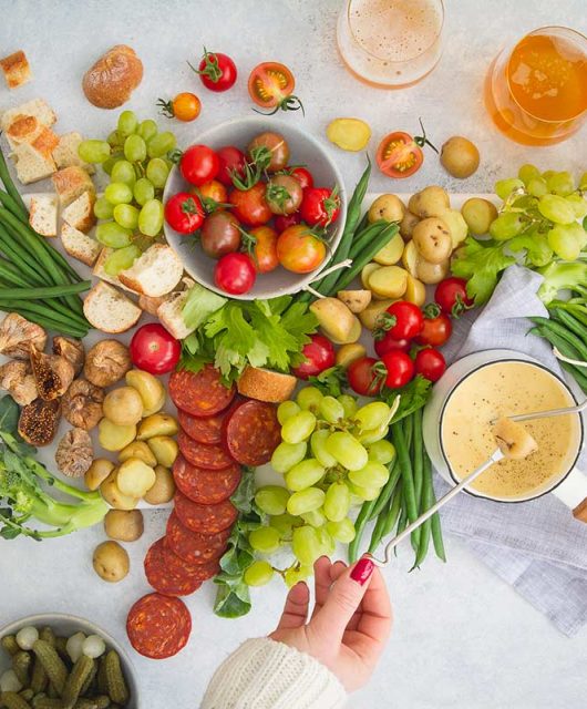
{"label": "grey bowl holding gherkins and pickled onions, without its contents", "polygon": [[[45,626],[53,629],[55,635],[70,637],[80,630],[84,635],[99,635],[104,639],[107,649],[116,650],[121,658],[122,671],[128,686],[131,693],[131,700],[126,705],[127,709],[138,709],[141,705],[138,681],[136,678],[136,671],[133,667],[131,658],[126,650],[116,640],[109,635],[105,630],[97,627],[90,620],[79,618],[78,616],[70,616],[63,613],[42,613],[35,616],[27,616],[20,618],[13,623],[9,623],[3,628],[0,628],[0,638],[4,635],[16,635],[21,628],[32,625],[39,630]],[[0,648],[0,675],[10,668],[10,658],[8,654]]]}

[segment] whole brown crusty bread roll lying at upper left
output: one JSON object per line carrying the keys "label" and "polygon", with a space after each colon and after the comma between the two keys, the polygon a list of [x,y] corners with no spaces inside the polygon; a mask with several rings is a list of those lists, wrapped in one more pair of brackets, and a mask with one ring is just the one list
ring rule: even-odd
{"label": "whole brown crusty bread roll lying at upper left", "polygon": [[134,49],[116,44],[84,74],[85,97],[99,109],[116,109],[126,103],[143,79],[143,62]]}

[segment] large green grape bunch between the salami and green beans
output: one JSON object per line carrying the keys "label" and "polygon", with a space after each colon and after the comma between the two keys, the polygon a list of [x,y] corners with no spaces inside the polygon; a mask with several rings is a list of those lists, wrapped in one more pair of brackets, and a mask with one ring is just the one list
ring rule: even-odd
{"label": "large green grape bunch between the salami and green beans", "polygon": [[[393,413],[383,401],[359,407],[350,394],[325,395],[316,387],[279,404],[281,443],[271,465],[284,485],[259,487],[255,495],[265,520],[248,536],[257,558],[244,574],[246,584],[261,586],[278,572],[291,586],[337,542],[352,542],[351,508],[375,500],[390,476],[395,449],[385,436]],[[295,557],[288,568],[264,558],[288,545]]]}

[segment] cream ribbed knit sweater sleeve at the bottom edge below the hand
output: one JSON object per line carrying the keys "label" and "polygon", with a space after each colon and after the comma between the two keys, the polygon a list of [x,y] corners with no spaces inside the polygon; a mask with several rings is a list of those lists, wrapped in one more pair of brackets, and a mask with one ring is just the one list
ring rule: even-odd
{"label": "cream ribbed knit sweater sleeve at the bottom edge below the hand", "polygon": [[284,643],[244,643],[216,670],[200,709],[339,709],[344,688],[321,662]]}

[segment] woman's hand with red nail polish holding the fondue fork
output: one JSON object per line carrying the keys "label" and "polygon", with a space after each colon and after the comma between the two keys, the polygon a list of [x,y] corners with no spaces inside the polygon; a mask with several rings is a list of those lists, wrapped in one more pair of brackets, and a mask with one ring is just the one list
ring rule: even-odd
{"label": "woman's hand with red nail polish holding the fondue fork", "polygon": [[383,577],[363,557],[350,568],[321,556],[313,565],[316,603],[308,621],[310,592],[291,588],[274,640],[326,665],[347,691],[371,677],[391,630],[391,604]]}

